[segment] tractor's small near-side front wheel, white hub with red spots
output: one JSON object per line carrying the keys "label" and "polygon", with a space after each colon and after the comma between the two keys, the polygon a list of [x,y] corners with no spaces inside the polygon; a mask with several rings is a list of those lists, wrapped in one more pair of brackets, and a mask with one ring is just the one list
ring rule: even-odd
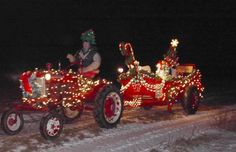
{"label": "tractor's small near-side front wheel, white hub with red spots", "polygon": [[40,121],[40,133],[47,140],[58,138],[62,132],[62,129],[62,118],[56,112],[49,113]]}

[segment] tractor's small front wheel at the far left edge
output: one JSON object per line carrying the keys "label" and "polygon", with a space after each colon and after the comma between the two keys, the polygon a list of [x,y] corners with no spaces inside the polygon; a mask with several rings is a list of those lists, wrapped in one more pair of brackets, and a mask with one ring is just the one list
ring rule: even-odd
{"label": "tractor's small front wheel at the far left edge", "polygon": [[5,111],[2,114],[1,126],[3,131],[8,135],[18,134],[24,126],[22,113],[14,109]]}

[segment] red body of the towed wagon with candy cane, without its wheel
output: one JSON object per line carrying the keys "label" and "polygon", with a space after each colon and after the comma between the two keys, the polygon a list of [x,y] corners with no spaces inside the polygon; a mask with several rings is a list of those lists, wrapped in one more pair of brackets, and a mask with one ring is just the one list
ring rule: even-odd
{"label": "red body of the towed wagon with candy cane, without its wheel", "polygon": [[[120,44],[122,55],[127,59],[127,72],[119,75],[121,94],[124,105],[128,107],[152,107],[182,102],[188,89],[195,88],[197,97],[202,98],[204,87],[201,82],[201,73],[194,64],[183,64],[175,67],[176,75],[165,80],[156,73],[142,70],[139,63],[135,65],[132,46],[129,43]],[[125,53],[124,53],[125,52]],[[130,57],[129,55],[130,54]],[[136,61],[137,62],[137,61]],[[195,104],[195,105],[194,105]],[[198,103],[192,103],[197,107]]]}

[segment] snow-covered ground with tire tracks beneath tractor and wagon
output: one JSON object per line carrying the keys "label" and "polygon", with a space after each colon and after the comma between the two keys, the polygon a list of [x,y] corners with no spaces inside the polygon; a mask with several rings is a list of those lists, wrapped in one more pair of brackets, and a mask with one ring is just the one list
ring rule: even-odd
{"label": "snow-covered ground with tire tracks beneath tractor and wagon", "polygon": [[[235,100],[225,96],[208,95],[204,102]],[[133,109],[124,111],[117,128],[101,129],[92,113],[85,112],[78,122],[65,125],[55,141],[46,141],[39,134],[42,114],[25,114],[20,134],[7,136],[0,130],[0,152],[234,152],[235,114],[236,105],[203,104],[192,116],[186,116],[179,105],[174,106],[174,113],[168,113],[166,107]]]}

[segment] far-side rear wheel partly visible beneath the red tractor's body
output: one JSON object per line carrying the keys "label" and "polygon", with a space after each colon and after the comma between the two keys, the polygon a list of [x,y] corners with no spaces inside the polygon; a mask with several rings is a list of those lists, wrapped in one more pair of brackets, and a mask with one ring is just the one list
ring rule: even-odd
{"label": "far-side rear wheel partly visible beneath the red tractor's body", "polygon": [[66,124],[74,122],[76,119],[80,118],[83,113],[83,109],[81,110],[73,110],[71,108],[63,108],[63,116],[64,122]]}

